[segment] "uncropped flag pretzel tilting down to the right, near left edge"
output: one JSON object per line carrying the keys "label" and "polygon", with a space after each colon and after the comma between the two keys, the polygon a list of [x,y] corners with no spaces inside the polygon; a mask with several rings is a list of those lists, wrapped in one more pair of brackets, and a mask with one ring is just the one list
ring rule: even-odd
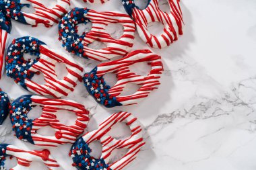
{"label": "uncropped flag pretzel tilting down to the right, near left edge", "polygon": [[[30,53],[37,58],[25,60],[24,53]],[[57,62],[63,63],[68,72],[61,80],[55,72]],[[36,38],[26,36],[14,39],[7,49],[6,70],[7,76],[28,91],[38,95],[62,97],[74,90],[77,80],[82,81],[83,68],[71,56],[49,48]],[[43,85],[31,80],[34,74],[40,73],[44,75],[46,82]]]}

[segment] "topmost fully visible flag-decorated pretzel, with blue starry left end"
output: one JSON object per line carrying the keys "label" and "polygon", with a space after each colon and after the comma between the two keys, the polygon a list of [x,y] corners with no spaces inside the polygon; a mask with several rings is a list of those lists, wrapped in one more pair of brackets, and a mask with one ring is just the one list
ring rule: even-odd
{"label": "topmost fully visible flag-decorated pretzel, with blue starry left end", "polygon": [[[77,35],[77,25],[92,22],[92,30]],[[110,23],[123,25],[123,36],[119,40],[105,31]],[[133,46],[135,23],[127,14],[115,11],[97,12],[87,8],[74,8],[59,24],[59,39],[63,47],[72,54],[92,60],[109,60],[115,56],[125,56]],[[88,45],[94,41],[102,42],[106,48],[94,50]]]}

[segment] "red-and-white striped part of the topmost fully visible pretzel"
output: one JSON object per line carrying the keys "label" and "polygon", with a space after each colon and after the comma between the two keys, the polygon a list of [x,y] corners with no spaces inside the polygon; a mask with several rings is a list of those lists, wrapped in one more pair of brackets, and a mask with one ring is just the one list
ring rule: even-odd
{"label": "red-and-white striped part of the topmost fully visible pretzel", "polygon": [[[86,56],[93,60],[109,60],[115,56],[125,56],[133,46],[135,23],[127,14],[115,11],[97,12],[90,9],[86,15],[92,22],[92,30],[84,37],[84,51]],[[121,24],[123,26],[123,36],[119,40],[112,38],[106,32],[108,24]],[[94,41],[100,41],[106,48],[94,50],[88,45]]]}

